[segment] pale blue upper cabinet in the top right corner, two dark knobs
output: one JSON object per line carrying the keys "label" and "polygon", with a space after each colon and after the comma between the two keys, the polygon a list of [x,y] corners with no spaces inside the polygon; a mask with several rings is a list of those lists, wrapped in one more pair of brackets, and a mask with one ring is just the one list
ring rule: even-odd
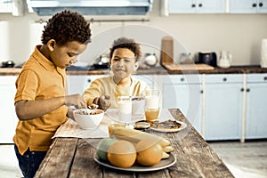
{"label": "pale blue upper cabinet in the top right corner, two dark knobs", "polygon": [[230,0],[231,13],[266,13],[267,0]]}

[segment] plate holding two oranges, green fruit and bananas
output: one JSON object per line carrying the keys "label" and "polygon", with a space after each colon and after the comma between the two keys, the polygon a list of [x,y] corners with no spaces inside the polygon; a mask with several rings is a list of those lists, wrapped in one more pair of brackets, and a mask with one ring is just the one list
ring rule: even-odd
{"label": "plate holding two oranges, green fruit and bananas", "polygon": [[175,156],[170,142],[156,134],[117,127],[109,138],[97,145],[93,159],[101,166],[131,171],[149,172],[173,166]]}

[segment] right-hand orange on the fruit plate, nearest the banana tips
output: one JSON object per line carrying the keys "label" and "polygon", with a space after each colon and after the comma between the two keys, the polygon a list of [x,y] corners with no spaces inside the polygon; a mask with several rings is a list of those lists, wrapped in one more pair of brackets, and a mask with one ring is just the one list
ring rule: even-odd
{"label": "right-hand orange on the fruit plate, nearest the banana tips", "polygon": [[135,146],[137,162],[142,166],[157,165],[162,158],[163,150],[158,143],[142,140]]}

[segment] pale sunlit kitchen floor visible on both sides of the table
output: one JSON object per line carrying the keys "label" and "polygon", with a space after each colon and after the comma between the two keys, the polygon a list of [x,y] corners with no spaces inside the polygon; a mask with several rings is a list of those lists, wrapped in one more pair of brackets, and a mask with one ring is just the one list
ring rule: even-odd
{"label": "pale sunlit kitchen floor visible on both sides of the table", "polygon": [[[267,178],[267,142],[209,142],[237,178]],[[13,145],[0,145],[0,177],[22,177]]]}

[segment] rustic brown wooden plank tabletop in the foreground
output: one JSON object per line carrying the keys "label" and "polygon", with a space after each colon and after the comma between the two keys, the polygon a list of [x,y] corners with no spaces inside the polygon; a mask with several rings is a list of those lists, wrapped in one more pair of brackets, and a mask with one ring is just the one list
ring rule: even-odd
{"label": "rustic brown wooden plank tabletop in the foreground", "polygon": [[117,171],[96,163],[93,160],[96,150],[85,139],[56,138],[36,177],[234,177],[182,112],[179,109],[169,110],[175,119],[185,122],[187,128],[177,133],[153,134],[160,134],[172,143],[173,154],[177,158],[174,166],[145,173]]}

